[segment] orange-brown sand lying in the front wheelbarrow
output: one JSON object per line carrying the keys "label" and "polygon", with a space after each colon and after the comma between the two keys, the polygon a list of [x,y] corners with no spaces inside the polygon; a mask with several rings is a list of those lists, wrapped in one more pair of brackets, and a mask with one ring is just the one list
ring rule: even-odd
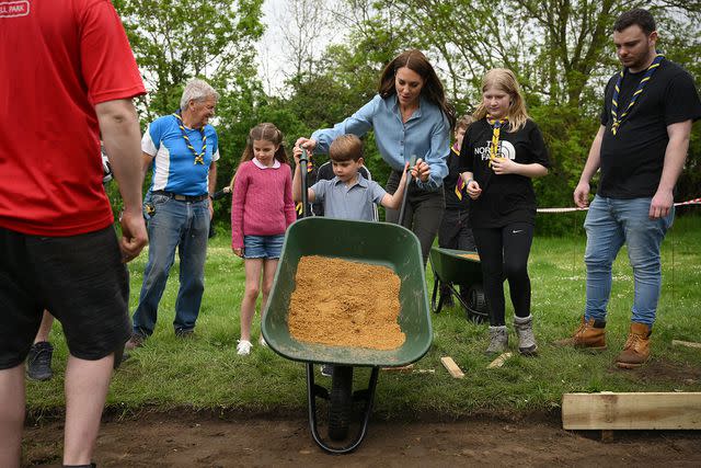
{"label": "orange-brown sand lying in the front wheelbarrow", "polygon": [[401,331],[400,278],[387,266],[302,256],[289,301],[292,338],[332,346],[394,350]]}

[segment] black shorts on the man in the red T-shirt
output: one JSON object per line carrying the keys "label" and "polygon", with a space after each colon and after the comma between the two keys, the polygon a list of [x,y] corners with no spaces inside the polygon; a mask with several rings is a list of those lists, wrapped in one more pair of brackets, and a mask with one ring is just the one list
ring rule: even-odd
{"label": "black shorts on the man in the red T-shirt", "polygon": [[71,237],[0,228],[0,369],[26,358],[48,309],[70,354],[101,359],[129,339],[129,275],[112,227]]}

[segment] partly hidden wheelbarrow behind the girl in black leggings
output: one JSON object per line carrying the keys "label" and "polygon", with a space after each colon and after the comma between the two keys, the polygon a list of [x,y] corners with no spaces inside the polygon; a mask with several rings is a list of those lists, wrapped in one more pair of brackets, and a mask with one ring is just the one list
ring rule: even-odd
{"label": "partly hidden wheelbarrow behind the girl in black leggings", "polygon": [[469,320],[483,322],[489,319],[490,309],[482,287],[482,269],[478,253],[433,247],[429,258],[434,272],[430,309],[439,313],[446,299],[445,295],[450,294],[463,307]]}

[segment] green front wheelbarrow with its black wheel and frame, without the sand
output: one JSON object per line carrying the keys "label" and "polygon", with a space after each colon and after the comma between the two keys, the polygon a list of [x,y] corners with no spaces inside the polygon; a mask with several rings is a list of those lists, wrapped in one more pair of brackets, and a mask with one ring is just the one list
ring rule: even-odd
{"label": "green front wheelbarrow with its black wheel and frame, without the sand", "polygon": [[[297,341],[288,328],[288,309],[299,260],[306,255],[388,266],[401,279],[399,324],[406,335],[395,350],[331,346]],[[350,221],[323,217],[302,218],[285,236],[262,322],[263,336],[277,354],[306,363],[309,425],[314,442],[331,454],[356,449],[367,433],[380,367],[399,367],[418,361],[430,347],[433,330],[426,279],[418,239],[410,230],[386,222]],[[314,364],[332,364],[331,390],[314,384]],[[371,367],[368,387],[353,391],[353,368]],[[354,401],[364,401],[361,426],[349,443],[332,446],[319,434],[317,398],[329,400],[329,438],[345,441]]]}

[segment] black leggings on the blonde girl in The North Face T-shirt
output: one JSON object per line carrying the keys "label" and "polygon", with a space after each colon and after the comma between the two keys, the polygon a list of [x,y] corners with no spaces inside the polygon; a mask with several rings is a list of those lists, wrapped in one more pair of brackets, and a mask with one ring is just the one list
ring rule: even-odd
{"label": "black leggings on the blonde girl in The North Face T-shirt", "polygon": [[484,294],[490,306],[490,324],[504,326],[504,279],[508,279],[512,304],[517,317],[530,315],[528,255],[533,241],[533,225],[513,222],[502,228],[472,228],[482,264]]}

